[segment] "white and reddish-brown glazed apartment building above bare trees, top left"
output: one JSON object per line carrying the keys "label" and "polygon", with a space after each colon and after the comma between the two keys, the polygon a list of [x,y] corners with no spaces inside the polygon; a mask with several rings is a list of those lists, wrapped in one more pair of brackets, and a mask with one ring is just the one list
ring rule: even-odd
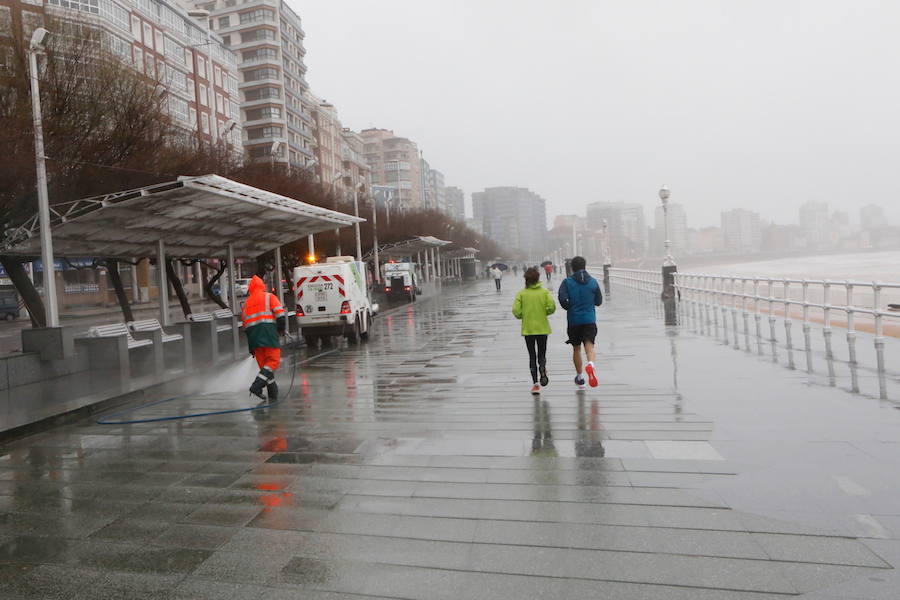
{"label": "white and reddish-brown glazed apartment building above bare trees, top left", "polygon": [[[0,34],[28,39],[45,17],[96,28],[106,50],[164,85],[186,139],[242,152],[236,58],[205,19],[166,0],[0,0]],[[8,52],[0,49],[0,64]]]}

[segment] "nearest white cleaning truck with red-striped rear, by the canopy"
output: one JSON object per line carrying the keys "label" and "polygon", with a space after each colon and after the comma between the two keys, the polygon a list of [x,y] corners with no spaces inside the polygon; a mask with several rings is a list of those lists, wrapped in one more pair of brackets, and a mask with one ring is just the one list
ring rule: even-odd
{"label": "nearest white cleaning truck with red-striped rear, by the canopy", "polygon": [[369,299],[365,263],[330,256],[324,263],[294,267],[296,318],[306,345],[344,336],[351,344],[368,339],[378,305]]}

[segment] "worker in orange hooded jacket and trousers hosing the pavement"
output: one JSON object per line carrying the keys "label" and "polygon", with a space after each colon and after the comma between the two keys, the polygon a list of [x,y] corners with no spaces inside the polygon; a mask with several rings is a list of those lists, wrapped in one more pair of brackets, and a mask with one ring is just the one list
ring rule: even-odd
{"label": "worker in orange hooded jacket and trousers hosing the pavement", "polygon": [[244,333],[247,334],[250,354],[259,365],[259,374],[250,386],[250,393],[266,400],[262,395],[263,388],[266,388],[268,401],[273,403],[278,400],[275,371],[281,364],[281,343],[278,338],[284,335],[287,325],[284,306],[278,296],[266,291],[266,284],[256,275],[250,280],[247,292],[241,322]]}

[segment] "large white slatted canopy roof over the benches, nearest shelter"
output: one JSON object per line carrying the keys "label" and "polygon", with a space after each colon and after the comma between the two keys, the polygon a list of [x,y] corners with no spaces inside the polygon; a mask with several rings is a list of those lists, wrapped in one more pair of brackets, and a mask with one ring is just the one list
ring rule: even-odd
{"label": "large white slatted canopy roof over the benches, nearest shelter", "polygon": [[[158,243],[168,256],[254,258],[308,234],[364,221],[219,175],[64,202],[50,207],[53,253],[60,257],[151,256]],[[8,230],[5,254],[41,252],[37,215]]]}

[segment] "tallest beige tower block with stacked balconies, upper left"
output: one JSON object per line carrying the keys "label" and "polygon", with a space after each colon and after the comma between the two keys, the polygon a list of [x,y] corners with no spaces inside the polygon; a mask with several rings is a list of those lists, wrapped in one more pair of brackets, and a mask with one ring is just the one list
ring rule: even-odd
{"label": "tallest beige tower block with stacked balconies, upper left", "polygon": [[313,111],[318,107],[307,95],[306,34],[297,13],[283,0],[181,1],[209,11],[210,27],[237,56],[247,156],[299,168],[312,166],[316,161]]}

